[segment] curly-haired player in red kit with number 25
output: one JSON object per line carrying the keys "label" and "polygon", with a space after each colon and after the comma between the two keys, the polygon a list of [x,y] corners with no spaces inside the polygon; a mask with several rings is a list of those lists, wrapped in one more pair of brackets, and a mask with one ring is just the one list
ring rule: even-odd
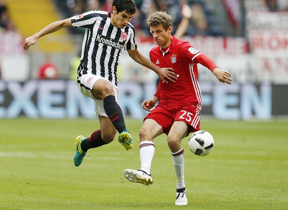
{"label": "curly-haired player in red kit with number 25", "polygon": [[[202,96],[198,85],[197,63],[210,69],[223,83],[232,84],[231,74],[217,65],[189,42],[171,35],[172,18],[166,12],[155,12],[147,19],[150,32],[158,46],[150,51],[150,59],[158,66],[169,66],[177,75],[175,83],[160,80],[157,91],[150,100],[142,103],[149,111],[139,131],[140,170],[126,169],[124,176],[132,182],[150,186],[153,179],[150,167],[155,152],[154,138],[167,135],[175,167],[177,185],[175,205],[187,205],[184,182],[184,150],[181,140],[189,133],[199,130]],[[158,105],[151,110],[156,103]]]}

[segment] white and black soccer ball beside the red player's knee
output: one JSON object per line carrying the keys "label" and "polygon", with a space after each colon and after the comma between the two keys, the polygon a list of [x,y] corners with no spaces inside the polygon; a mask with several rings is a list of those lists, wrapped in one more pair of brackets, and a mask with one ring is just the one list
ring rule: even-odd
{"label": "white and black soccer ball beside the red player's knee", "polygon": [[206,156],[214,148],[214,139],[207,131],[196,131],[189,139],[189,148],[197,156]]}

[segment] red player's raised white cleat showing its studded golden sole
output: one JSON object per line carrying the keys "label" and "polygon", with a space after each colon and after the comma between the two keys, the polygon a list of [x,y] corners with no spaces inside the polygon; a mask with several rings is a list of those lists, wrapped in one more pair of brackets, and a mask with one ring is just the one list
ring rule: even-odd
{"label": "red player's raised white cleat showing its studded golden sole", "polygon": [[124,176],[131,182],[137,182],[148,186],[153,183],[151,175],[148,175],[142,170],[126,169],[124,170]]}

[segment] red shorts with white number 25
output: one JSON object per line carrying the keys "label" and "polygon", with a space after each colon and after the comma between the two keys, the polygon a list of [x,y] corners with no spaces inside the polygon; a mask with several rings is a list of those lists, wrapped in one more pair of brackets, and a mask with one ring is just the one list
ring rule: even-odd
{"label": "red shorts with white number 25", "polygon": [[[196,109],[196,105],[157,105],[144,118],[155,120],[162,126],[163,133],[168,135],[172,124],[175,121],[186,122],[189,126],[188,134],[200,129],[200,110]],[[187,135],[188,135],[187,134]]]}

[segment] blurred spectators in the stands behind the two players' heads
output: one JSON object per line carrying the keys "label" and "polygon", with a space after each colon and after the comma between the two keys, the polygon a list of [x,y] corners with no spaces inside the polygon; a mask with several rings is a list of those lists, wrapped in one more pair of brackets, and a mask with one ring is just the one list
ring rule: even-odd
{"label": "blurred spectators in the stands behind the two players' heads", "polygon": [[[93,9],[110,11],[113,0],[58,0],[58,6],[66,17],[79,15]],[[189,5],[192,14],[188,17],[190,24],[185,35],[222,35],[220,25],[215,22],[213,12],[209,10],[203,0],[135,0],[138,7],[131,23],[137,30],[138,36],[146,36],[149,29],[146,25],[147,16],[155,11],[166,11],[173,19],[174,33],[184,15],[183,5]],[[213,24],[213,27],[210,27]],[[74,33],[82,33],[79,29],[72,29]]]}

